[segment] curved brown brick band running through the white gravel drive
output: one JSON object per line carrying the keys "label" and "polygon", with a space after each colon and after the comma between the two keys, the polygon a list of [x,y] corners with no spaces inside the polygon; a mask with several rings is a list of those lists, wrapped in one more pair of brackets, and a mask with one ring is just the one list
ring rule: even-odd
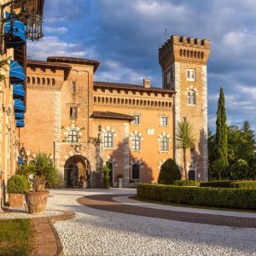
{"label": "curved brown brick band running through the white gravel drive", "polygon": [[113,198],[118,196],[124,195],[90,195],[81,197],[77,201],[86,207],[92,207],[98,210],[109,212],[127,213],[150,218],[164,218],[197,224],[256,228],[256,218],[224,216],[197,212],[180,212],[154,208],[150,208],[150,211],[148,211],[148,208],[146,207],[137,207],[132,206],[131,204],[114,201]]}

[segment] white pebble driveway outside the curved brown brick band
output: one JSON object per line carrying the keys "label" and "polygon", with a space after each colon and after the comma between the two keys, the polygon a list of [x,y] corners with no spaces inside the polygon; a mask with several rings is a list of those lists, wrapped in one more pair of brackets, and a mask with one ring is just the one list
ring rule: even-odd
{"label": "white pebble driveway outside the curved brown brick band", "polygon": [[51,191],[49,209],[72,211],[77,216],[54,224],[66,255],[256,255],[256,229],[107,212],[76,201],[106,191],[136,193],[134,189]]}

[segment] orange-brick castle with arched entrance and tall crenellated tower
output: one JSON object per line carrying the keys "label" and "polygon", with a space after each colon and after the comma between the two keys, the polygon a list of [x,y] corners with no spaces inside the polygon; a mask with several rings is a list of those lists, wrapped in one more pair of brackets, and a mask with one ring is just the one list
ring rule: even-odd
{"label": "orange-brick castle with arched entrance and tall crenellated tower", "polygon": [[20,142],[26,154],[48,152],[60,172],[61,186],[96,187],[108,165],[110,184],[119,177],[156,183],[160,166],[176,160],[177,122],[188,119],[195,149],[188,152],[189,179],[207,180],[207,60],[210,41],[173,35],[159,49],[162,88],[96,82],[100,62],[71,57],[27,61],[26,127]]}

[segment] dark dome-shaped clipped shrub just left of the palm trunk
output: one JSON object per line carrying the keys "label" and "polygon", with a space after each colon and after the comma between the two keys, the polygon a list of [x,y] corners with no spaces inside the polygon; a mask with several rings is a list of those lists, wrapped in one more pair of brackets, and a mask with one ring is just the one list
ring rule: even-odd
{"label": "dark dome-shaped clipped shrub just left of the palm trunk", "polygon": [[175,180],[180,180],[181,174],[175,161],[168,159],[161,166],[158,183],[172,184]]}

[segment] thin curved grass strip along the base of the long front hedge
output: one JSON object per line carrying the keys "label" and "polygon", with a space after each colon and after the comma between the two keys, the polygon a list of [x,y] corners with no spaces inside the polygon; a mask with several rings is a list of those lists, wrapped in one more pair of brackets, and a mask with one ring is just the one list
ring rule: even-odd
{"label": "thin curved grass strip along the base of the long front hedge", "polygon": [[165,201],[154,201],[142,197],[138,197],[137,195],[130,196],[131,199],[143,202],[149,202],[158,205],[165,205],[171,207],[185,207],[185,208],[197,208],[197,209],[206,209],[206,210],[218,210],[218,211],[227,211],[227,212],[252,212],[256,213],[254,210],[245,210],[245,209],[233,209],[233,208],[222,208],[222,207],[201,207],[201,206],[194,206],[194,205],[183,205],[183,204],[174,204]]}

